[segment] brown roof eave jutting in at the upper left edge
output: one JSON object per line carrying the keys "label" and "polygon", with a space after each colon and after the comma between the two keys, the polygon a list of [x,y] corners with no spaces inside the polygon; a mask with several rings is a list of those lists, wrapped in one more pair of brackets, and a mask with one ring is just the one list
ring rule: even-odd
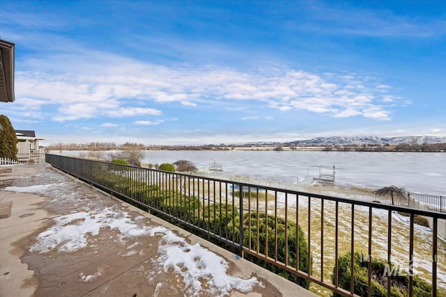
{"label": "brown roof eave jutting in at the upper left edge", "polygon": [[14,48],[0,39],[0,102],[14,102]]}

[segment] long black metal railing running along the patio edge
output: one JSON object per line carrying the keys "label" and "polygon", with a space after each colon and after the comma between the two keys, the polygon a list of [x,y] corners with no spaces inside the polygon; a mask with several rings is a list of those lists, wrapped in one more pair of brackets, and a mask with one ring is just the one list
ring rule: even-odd
{"label": "long black metal railing running along the patio edge", "polygon": [[53,154],[46,162],[323,294],[446,294],[440,212]]}

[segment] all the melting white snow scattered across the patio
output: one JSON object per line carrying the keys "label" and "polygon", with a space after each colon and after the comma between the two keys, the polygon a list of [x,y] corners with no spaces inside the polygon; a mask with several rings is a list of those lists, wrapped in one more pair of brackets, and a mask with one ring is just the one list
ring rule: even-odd
{"label": "all the melting white snow scattered across the patio", "polygon": [[[61,204],[66,199],[75,206],[75,211],[52,217],[54,224],[38,234],[36,242],[29,248],[30,252],[46,254],[48,252],[75,252],[87,247],[95,248],[93,237],[97,236],[101,230],[119,232],[117,240],[121,242],[130,238],[144,240],[143,236],[158,236],[160,240],[157,246],[157,257],[152,259],[154,267],[148,275],[153,275],[155,271],[169,273],[173,270],[183,278],[185,294],[188,296],[200,296],[201,294],[227,296],[233,289],[247,292],[252,291],[254,286],[263,287],[263,284],[255,277],[245,280],[229,275],[227,272],[229,264],[223,257],[203,248],[199,243],[188,243],[183,237],[176,235],[167,227],[142,225],[141,223],[144,222],[141,218],[144,216],[132,219],[128,211],[118,204],[109,207],[95,205],[95,201],[85,199],[82,194],[78,193],[79,191],[76,191],[79,188],[77,182],[61,175],[54,175],[54,173],[52,172],[50,174],[52,176],[40,180],[44,184],[8,186],[2,189],[3,191],[45,195],[53,199],[49,203]],[[46,182],[51,183],[45,183],[45,179]],[[61,191],[61,186],[64,191]],[[93,195],[99,196],[96,193]],[[92,244],[89,245],[89,243]],[[138,243],[133,243],[127,248],[123,246],[121,257],[136,254],[137,250],[134,249],[138,246]],[[93,275],[82,274],[79,275],[79,278],[82,282],[91,282],[101,274],[102,272],[98,268],[98,271]],[[149,279],[147,281],[150,282]],[[162,283],[158,283],[156,288],[160,289],[162,286]],[[155,290],[155,295],[156,293],[157,290]]]}

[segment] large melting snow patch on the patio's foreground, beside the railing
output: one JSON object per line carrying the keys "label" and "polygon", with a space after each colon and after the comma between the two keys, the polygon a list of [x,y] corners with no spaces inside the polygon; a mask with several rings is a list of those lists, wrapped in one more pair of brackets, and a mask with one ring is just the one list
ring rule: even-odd
{"label": "large melting snow patch on the patio's foreground, beside the railing", "polygon": [[[203,292],[212,296],[227,296],[233,289],[247,292],[252,291],[256,285],[263,286],[255,277],[244,280],[228,275],[226,272],[229,264],[226,260],[203,248],[199,243],[191,245],[167,227],[139,226],[132,221],[127,212],[122,213],[121,210],[115,210],[113,207],[79,211],[56,216],[53,219],[55,224],[38,234],[37,242],[30,248],[31,252],[45,253],[51,250],[72,252],[86,248],[88,234],[98,235],[101,228],[108,227],[121,233],[118,234],[118,241],[133,236],[161,236],[158,246],[160,257],[155,260],[155,263],[164,271],[173,268],[183,277],[188,296],[200,296]],[[134,246],[137,246],[137,243],[133,243],[128,248]],[[121,257],[132,255],[137,255],[137,252],[129,250]],[[79,275],[79,277],[82,282],[91,282],[99,275],[100,272],[95,275]],[[203,287],[202,282],[206,282],[207,285]],[[161,284],[157,285],[155,293],[161,287]]]}

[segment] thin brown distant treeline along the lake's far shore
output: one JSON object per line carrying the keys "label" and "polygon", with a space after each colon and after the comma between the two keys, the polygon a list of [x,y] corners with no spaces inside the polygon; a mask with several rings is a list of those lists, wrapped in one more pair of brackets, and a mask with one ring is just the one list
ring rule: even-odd
{"label": "thin brown distant treeline along the lake's far shore", "polygon": [[124,143],[116,145],[114,142],[109,143],[59,143],[50,145],[45,150],[306,150],[312,147],[315,150],[323,151],[341,151],[341,152],[446,152],[446,143],[401,143],[398,145],[390,144],[364,144],[364,145],[144,145],[142,143]]}

